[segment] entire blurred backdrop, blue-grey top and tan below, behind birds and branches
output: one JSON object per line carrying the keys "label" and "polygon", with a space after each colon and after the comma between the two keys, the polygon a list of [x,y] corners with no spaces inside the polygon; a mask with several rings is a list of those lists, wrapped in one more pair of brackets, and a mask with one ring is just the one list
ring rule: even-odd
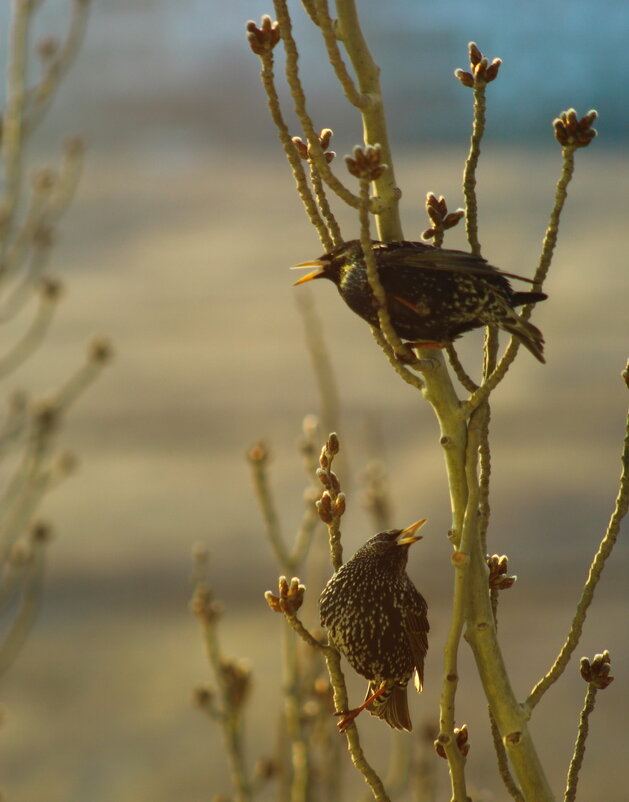
{"label": "entire blurred backdrop, blue-grey top and tan below, behind birds and branches", "polygon": [[[382,67],[408,238],[427,227],[427,191],[445,195],[451,208],[462,205],[471,92],[453,70],[467,67],[470,40],[504,62],[488,90],[478,173],[480,239],[494,264],[533,273],[561,167],[551,121],[571,106],[600,113],[598,139],[577,153],[549,300],[535,312],[547,365],[521,353],[493,397],[490,549],[507,553],[519,577],[503,599],[501,628],[522,698],[563,642],[617,491],[627,403],[620,371],[629,15],[621,0],[358,5]],[[68,10],[64,0],[46,0],[35,40],[61,35]],[[3,66],[9,11],[2,4]],[[291,287],[287,267],[318,256],[320,245],[294,194],[244,36],[248,19],[271,11],[253,0],[95,0],[78,61],[31,151],[41,166],[56,162],[68,135],[88,142],[52,264],[65,298],[45,346],[6,390],[47,392],[82,359],[94,332],[111,337],[117,355],[63,433],[80,471],[43,509],[57,532],[44,605],[0,697],[1,785],[13,802],[202,800],[229,791],[219,732],[190,704],[192,686],[208,678],[187,610],[190,552],[199,541],[226,607],[225,651],[248,658],[254,671],[249,758],[264,754],[264,725],[278,705],[279,654],[269,644],[279,643],[283,622],[262,598],[277,569],[244,454],[260,438],[270,444],[291,537],[307,484],[296,442],[304,415],[319,411],[295,306],[302,292],[316,299],[340,383],[347,553],[373,534],[357,478],[369,459],[386,462],[397,524],[429,518],[409,568],[433,627],[426,691],[411,710],[418,723],[437,718],[452,585],[438,430],[331,285]],[[294,13],[311,112],[319,127],[334,129],[332,148],[343,156],[361,141],[360,122],[298,4]],[[339,217],[354,236],[353,216],[340,210]],[[446,244],[464,248],[463,231]],[[460,341],[475,375],[481,342],[480,334]],[[577,654],[608,648],[617,678],[592,719],[584,799],[626,799],[619,761],[629,689],[626,570],[621,542]],[[467,651],[459,722],[478,728],[471,787],[475,799],[503,799]],[[558,793],[585,692],[577,661],[568,674],[533,721]],[[358,700],[362,681],[351,687]],[[370,717],[363,728],[381,767],[388,732]],[[445,763],[438,769],[445,798]]]}

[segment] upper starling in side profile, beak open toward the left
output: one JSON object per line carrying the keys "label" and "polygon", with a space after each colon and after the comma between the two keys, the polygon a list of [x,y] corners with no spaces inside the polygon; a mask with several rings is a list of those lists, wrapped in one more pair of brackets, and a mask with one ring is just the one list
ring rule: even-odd
{"label": "upper starling in side profile, beak open toward the left", "polygon": [[[424,242],[373,241],[373,252],[391,323],[401,339],[441,347],[463,332],[492,324],[513,334],[540,362],[545,361],[541,331],[520,320],[513,309],[547,297],[542,292],[515,292],[509,283],[509,278],[530,279],[504,273],[480,256]],[[349,308],[378,327],[358,240],[297,265],[311,266],[317,269],[295,284],[329,278]]]}

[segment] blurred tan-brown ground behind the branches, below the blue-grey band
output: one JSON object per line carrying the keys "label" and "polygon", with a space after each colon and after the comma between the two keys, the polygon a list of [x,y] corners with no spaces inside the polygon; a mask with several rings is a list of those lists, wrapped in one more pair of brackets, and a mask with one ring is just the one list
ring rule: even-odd
{"label": "blurred tan-brown ground behind the branches, below the blue-grey band", "polygon": [[[463,147],[428,148],[398,158],[407,236],[425,227],[426,191],[456,205],[463,154]],[[521,353],[493,401],[490,548],[508,553],[519,576],[504,595],[500,626],[520,697],[556,655],[606,526],[627,402],[619,378],[627,163],[595,148],[577,161],[550,298],[534,318],[548,364]],[[492,262],[533,272],[559,166],[558,152],[487,148],[480,236]],[[293,289],[286,268],[320,251],[291,184],[277,154],[208,149],[172,161],[154,154],[88,161],[56,254],[67,297],[47,344],[16,382],[45,392],[82,358],[93,331],[112,337],[117,358],[63,435],[81,470],[45,504],[58,537],[44,608],[2,691],[0,775],[13,802],[200,801],[228,791],[219,733],[189,701],[191,687],[207,679],[187,611],[189,553],[199,540],[210,548],[215,591],[227,606],[225,651],[248,657],[254,669],[249,756],[268,749],[268,721],[279,710],[279,654],[269,644],[279,645],[282,621],[262,599],[277,569],[243,456],[260,437],[271,443],[290,532],[305,486],[295,441],[318,398],[294,305],[307,289]],[[462,232],[448,244],[464,247]],[[412,699],[412,714],[434,720],[452,584],[437,429],[333,287],[312,292],[341,384],[348,553],[370,534],[355,476],[373,456],[388,465],[396,521],[430,519],[410,564],[433,627],[426,692]],[[480,335],[460,343],[464,362],[477,365]],[[578,649],[579,656],[610,649],[617,678],[592,718],[583,799],[626,799],[626,569],[620,543]],[[504,799],[465,644],[462,654],[458,720],[472,728],[471,782],[479,799]],[[353,698],[362,684],[352,685]],[[573,661],[533,721],[558,793],[584,691]],[[388,731],[369,717],[362,728],[377,755]],[[439,769],[445,798],[445,764]]]}

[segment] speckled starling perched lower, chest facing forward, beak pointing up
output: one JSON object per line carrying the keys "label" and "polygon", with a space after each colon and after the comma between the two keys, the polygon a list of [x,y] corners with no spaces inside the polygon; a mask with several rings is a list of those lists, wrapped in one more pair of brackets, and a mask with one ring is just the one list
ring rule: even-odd
{"label": "speckled starling perched lower, chest facing forward, beak pointing up", "polygon": [[358,549],[325,586],[321,624],[350,665],[369,680],[363,704],[339,722],[343,732],[363,709],[390,727],[412,730],[406,686],[422,689],[428,650],[428,606],[408,578],[406,563],[424,518],[380,532]]}

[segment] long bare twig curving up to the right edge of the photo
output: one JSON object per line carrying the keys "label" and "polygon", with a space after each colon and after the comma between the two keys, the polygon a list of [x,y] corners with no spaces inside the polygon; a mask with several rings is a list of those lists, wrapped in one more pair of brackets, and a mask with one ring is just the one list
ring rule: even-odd
{"label": "long bare twig curving up to the right edge of the photo", "polygon": [[581,598],[577,605],[577,610],[570,626],[570,631],[561,651],[557,656],[550,671],[537,683],[524,703],[525,708],[528,710],[529,715],[533,708],[540,702],[542,696],[550,688],[553,683],[557,682],[559,677],[563,674],[570,661],[572,653],[579,643],[585,617],[590,604],[594,598],[594,591],[603,573],[605,562],[612,553],[618,533],[620,531],[620,524],[622,519],[627,514],[629,508],[629,415],[627,416],[627,424],[625,429],[624,448],[621,455],[622,470],[620,474],[620,486],[618,495],[616,497],[616,504],[614,511],[609,520],[607,531],[601,540],[599,549],[592,561],[588,578],[583,588]]}

